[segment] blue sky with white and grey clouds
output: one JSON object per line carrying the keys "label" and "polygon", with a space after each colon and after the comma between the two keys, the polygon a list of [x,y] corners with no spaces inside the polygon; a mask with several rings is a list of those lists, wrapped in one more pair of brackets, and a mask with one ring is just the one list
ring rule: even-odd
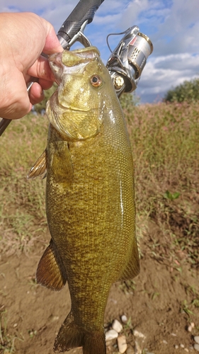
{"label": "blue sky with white and grey clouds", "polygon": [[[56,33],[78,0],[1,0],[1,12],[31,11],[50,21]],[[141,103],[157,103],[169,89],[199,74],[199,0],[104,0],[84,34],[106,64],[109,33],[137,25],[153,43],[135,94]],[[113,50],[123,36],[111,36]],[[73,47],[72,47],[73,49]]]}

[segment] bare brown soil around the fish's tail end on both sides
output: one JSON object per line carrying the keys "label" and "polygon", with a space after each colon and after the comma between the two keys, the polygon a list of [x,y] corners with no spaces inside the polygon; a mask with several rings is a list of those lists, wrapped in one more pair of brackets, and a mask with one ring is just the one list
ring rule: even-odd
{"label": "bare brown soil around the fish's tail end on both sides", "polygon": [[[144,245],[140,246],[144,249]],[[6,313],[6,333],[16,336],[16,354],[52,354],[55,336],[69,313],[67,285],[61,292],[53,292],[35,284],[35,270],[43,250],[43,243],[38,241],[34,251],[26,255],[1,255],[0,310]],[[120,282],[112,286],[105,314],[106,327],[125,314],[129,319],[124,326],[128,348],[134,348],[137,342],[142,353],[191,353],[193,336],[198,334],[199,311],[194,307],[192,314],[188,305],[199,290],[198,271],[186,264],[174,269],[154,260],[147,252],[140,263],[140,275],[131,289]],[[195,327],[190,332],[191,322]],[[143,333],[144,338],[133,336],[133,329]],[[107,353],[118,353],[116,343],[116,340],[108,343]],[[0,353],[11,353],[1,350]],[[69,353],[80,354],[82,350],[76,348]]]}

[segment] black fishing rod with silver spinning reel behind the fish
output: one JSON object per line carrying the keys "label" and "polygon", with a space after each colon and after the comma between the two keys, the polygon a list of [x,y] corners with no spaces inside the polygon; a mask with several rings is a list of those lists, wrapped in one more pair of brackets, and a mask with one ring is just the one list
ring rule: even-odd
{"label": "black fishing rod with silver spinning reel behind the fish", "polygon": [[[80,0],[57,33],[57,38],[64,50],[69,50],[74,42],[81,42],[84,47],[91,46],[89,38],[84,35],[86,25],[93,21],[93,17],[104,0]],[[116,35],[111,33],[110,35]],[[132,92],[137,88],[142,70],[147,62],[147,57],[152,54],[153,45],[151,40],[140,33],[140,28],[133,26],[123,33],[120,40],[108,59],[106,67],[113,81],[118,97],[123,92]],[[110,36],[108,35],[108,37]],[[108,38],[107,38],[108,43]],[[110,46],[108,44],[110,49]],[[27,91],[33,82],[27,84]],[[11,120],[2,118],[0,122],[0,137],[10,124]]]}

